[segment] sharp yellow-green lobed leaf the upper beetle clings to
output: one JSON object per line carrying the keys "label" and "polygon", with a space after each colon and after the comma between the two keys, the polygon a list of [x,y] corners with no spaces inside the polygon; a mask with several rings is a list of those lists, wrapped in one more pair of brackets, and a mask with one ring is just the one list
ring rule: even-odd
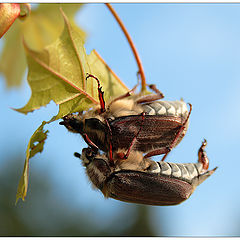
{"label": "sharp yellow-green lobed leaf the upper beetle clings to", "polygon": [[71,27],[64,14],[63,17],[64,30],[53,44],[39,52],[25,46],[32,95],[23,108],[16,109],[21,113],[46,106],[51,100],[59,104],[56,120],[89,109],[98,103],[98,91],[95,80],[86,81],[87,73],[99,78],[106,101],[128,91],[96,51],[86,55],[81,32]]}

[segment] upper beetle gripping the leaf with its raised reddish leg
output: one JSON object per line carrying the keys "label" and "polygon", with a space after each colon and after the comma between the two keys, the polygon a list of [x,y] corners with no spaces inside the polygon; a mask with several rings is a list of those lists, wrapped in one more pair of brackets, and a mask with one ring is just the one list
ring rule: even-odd
{"label": "upper beetle gripping the leaf with its raised reddish leg", "polygon": [[100,109],[86,113],[69,114],[60,122],[68,130],[80,133],[95,151],[113,152],[123,149],[122,157],[127,159],[131,150],[141,151],[146,157],[165,154],[176,147],[186,134],[190,111],[183,101],[156,101],[163,94],[150,85],[155,94],[139,97],[130,92],[114,99],[105,107],[103,91],[99,80]]}

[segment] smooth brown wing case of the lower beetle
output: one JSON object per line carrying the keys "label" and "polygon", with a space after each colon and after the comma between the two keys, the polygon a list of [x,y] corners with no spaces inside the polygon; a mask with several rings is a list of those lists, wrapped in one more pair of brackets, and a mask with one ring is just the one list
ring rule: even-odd
{"label": "smooth brown wing case of the lower beetle", "polygon": [[179,204],[193,192],[187,182],[135,171],[116,172],[104,185],[102,192],[106,197],[157,206]]}

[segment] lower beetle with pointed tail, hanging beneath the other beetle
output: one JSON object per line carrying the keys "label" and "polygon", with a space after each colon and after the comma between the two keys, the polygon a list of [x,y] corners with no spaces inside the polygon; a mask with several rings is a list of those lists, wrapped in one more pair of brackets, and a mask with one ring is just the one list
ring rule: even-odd
{"label": "lower beetle with pointed tail, hanging beneath the other beetle", "polygon": [[141,152],[131,151],[128,161],[110,165],[106,154],[84,148],[82,160],[93,186],[106,198],[147,205],[177,205],[188,199],[196,187],[211,176],[217,167],[208,170],[206,140],[198,151],[197,163],[175,164],[155,162]]}

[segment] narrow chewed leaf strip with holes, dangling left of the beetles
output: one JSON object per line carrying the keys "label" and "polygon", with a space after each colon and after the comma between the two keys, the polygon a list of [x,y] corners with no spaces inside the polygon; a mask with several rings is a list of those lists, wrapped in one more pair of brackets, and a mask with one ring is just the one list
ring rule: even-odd
{"label": "narrow chewed leaf strip with holes, dangling left of the beetles", "polygon": [[29,160],[38,152],[43,151],[43,145],[47,138],[47,133],[48,133],[48,131],[43,130],[43,127],[45,124],[50,123],[50,122],[51,122],[51,120],[49,122],[45,122],[45,121],[42,122],[40,127],[34,132],[32,137],[30,138],[30,141],[27,146],[26,159],[25,159],[25,163],[24,163],[23,173],[22,173],[21,179],[18,184],[17,195],[16,195],[16,204],[17,204],[19,198],[22,198],[23,201],[25,200],[25,197],[27,195],[27,189],[28,189]]}

